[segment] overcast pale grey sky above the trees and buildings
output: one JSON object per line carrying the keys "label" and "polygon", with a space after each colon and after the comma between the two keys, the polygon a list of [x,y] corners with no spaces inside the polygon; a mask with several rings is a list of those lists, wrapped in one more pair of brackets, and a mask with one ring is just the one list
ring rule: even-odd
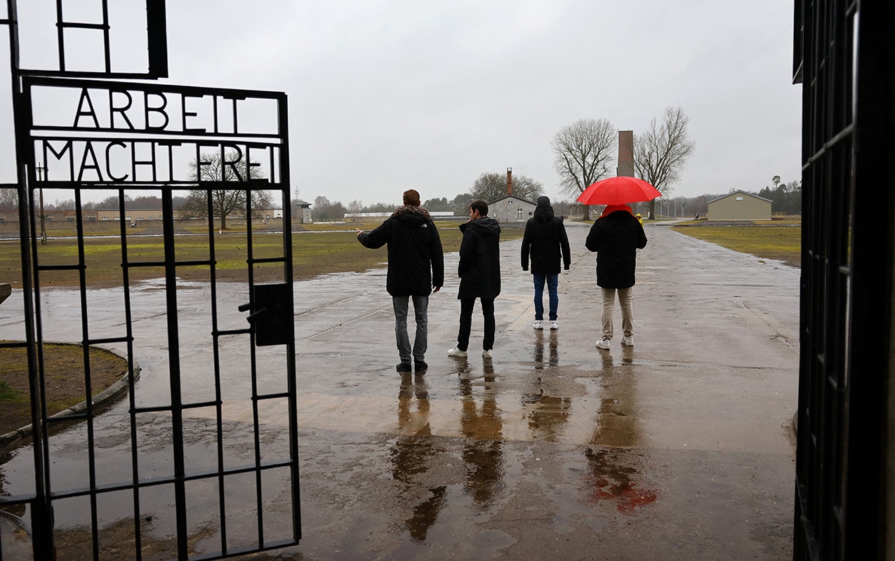
{"label": "overcast pale grey sky above the trees and buildings", "polygon": [[673,194],[800,178],[789,2],[167,4],[167,82],[286,92],[304,200],[452,199],[507,167],[571,198],[552,166],[560,127],[605,117],[637,133],[666,106],[695,141]]}

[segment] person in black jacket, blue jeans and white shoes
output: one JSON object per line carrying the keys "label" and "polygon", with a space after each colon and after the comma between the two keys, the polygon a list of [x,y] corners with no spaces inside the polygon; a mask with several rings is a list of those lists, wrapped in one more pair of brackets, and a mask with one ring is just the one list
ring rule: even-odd
{"label": "person in black jacket, blue jeans and white shoes", "polygon": [[566,225],[553,216],[549,197],[538,197],[534,216],[525,223],[522,237],[522,270],[528,270],[529,259],[534,279],[534,328],[544,328],[544,284],[550,294],[550,329],[558,329],[560,261],[566,270],[572,264]]}

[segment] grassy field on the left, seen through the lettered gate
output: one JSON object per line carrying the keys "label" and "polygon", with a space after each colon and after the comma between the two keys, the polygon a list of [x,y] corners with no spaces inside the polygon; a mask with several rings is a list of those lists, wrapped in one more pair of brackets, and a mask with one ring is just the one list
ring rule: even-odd
{"label": "grassy field on the left, seen through the lettered gate", "polygon": [[[368,250],[357,242],[355,227],[370,231],[380,223],[356,225],[313,225],[316,231],[292,235],[293,275],[307,279],[325,273],[365,271],[380,267],[388,259],[385,247]],[[457,222],[436,222],[444,251],[458,251],[462,235]],[[182,234],[193,234],[192,228]],[[197,228],[205,234],[207,230]],[[38,263],[41,266],[77,266],[78,244],[73,237],[64,236],[64,230],[47,233],[51,238],[47,245],[38,244]],[[88,234],[85,232],[85,234]],[[84,275],[87,285],[94,287],[120,286],[124,282],[121,267],[123,254],[117,232],[87,238],[84,242]],[[144,235],[140,235],[144,234]],[[522,228],[505,228],[501,239],[522,237]],[[139,228],[127,231],[127,260],[141,263],[128,269],[131,281],[164,276],[160,263],[165,258],[165,248],[159,235],[149,235]],[[283,234],[256,233],[252,235],[252,255],[255,259],[276,258],[282,255]],[[215,234],[215,275],[224,281],[244,281],[248,276],[248,238],[244,230],[231,229]],[[210,276],[209,242],[207,235],[176,235],[175,258],[190,265],[178,267],[178,276],[191,280],[206,280]],[[282,276],[282,267],[276,264],[260,264],[253,270],[255,280],[275,282]],[[0,282],[21,282],[19,242],[0,242]],[[41,286],[77,286],[79,271],[51,270],[40,275]]]}

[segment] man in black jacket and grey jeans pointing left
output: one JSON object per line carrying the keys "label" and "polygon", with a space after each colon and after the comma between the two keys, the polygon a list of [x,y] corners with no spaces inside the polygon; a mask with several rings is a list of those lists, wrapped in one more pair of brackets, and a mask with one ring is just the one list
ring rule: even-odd
{"label": "man in black jacket and grey jeans pointing left", "polygon": [[[445,264],[439,231],[429,211],[420,207],[420,193],[413,189],[404,191],[404,206],[396,208],[388,220],[369,234],[358,229],[357,239],[364,247],[373,250],[388,243],[386,290],[391,294],[395,310],[395,338],[401,358],[396,370],[410,372],[413,356],[413,368],[424,372],[429,368],[425,361],[429,342],[429,294],[439,292],[444,285]],[[407,310],[411,299],[416,316],[413,351],[407,336]]]}

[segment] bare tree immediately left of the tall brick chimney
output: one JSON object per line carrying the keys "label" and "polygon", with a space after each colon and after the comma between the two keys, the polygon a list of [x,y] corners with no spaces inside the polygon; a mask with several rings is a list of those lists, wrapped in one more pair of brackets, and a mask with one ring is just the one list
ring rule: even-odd
{"label": "bare tree immediately left of the tall brick chimney", "polygon": [[[609,119],[581,119],[559,129],[550,146],[562,191],[577,198],[591,183],[607,176],[615,162],[618,132]],[[584,207],[584,220],[590,220]]]}

